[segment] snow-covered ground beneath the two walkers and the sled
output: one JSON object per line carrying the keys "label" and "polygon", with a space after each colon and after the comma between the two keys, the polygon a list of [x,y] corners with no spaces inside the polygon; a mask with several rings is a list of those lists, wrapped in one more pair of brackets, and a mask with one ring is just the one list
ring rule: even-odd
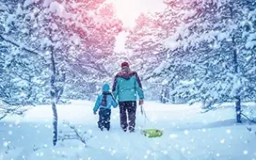
{"label": "snow-covered ground beneath the two walkers and the sled", "polygon": [[[80,131],[87,131],[86,148],[79,140],[59,141],[52,145],[52,111],[37,106],[26,116],[7,117],[0,123],[0,159],[256,159],[256,126],[236,124],[230,105],[217,111],[200,113],[200,105],[162,105],[146,102],[150,121],[144,121],[138,109],[137,132],[122,132],[118,109],[113,109],[110,132],[97,128],[98,115],[93,103],[73,101],[58,105],[59,129],[67,120]],[[147,138],[140,128],[164,130],[164,135]],[[246,128],[252,128],[252,131]]]}

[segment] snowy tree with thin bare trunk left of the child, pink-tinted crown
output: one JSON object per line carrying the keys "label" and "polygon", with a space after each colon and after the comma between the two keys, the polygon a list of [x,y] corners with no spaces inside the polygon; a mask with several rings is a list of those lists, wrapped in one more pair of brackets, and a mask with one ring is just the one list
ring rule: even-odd
{"label": "snowy tree with thin bare trunk left of the child, pink-tinted crown", "polygon": [[[53,145],[56,145],[56,103],[61,96],[69,98],[69,95],[73,95],[72,90],[78,89],[74,86],[78,85],[79,79],[89,77],[81,81],[83,84],[95,78],[93,73],[97,79],[108,75],[105,66],[100,62],[113,53],[115,36],[121,31],[121,22],[114,16],[113,9],[111,11],[111,5],[103,4],[102,0],[12,2],[13,4],[4,1],[5,7],[1,7],[1,12],[4,13],[1,18],[3,22],[7,22],[3,23],[6,26],[3,26],[0,34],[2,43],[26,52],[32,59],[31,66],[38,64],[33,69],[38,67],[37,82],[43,85],[42,90],[38,89],[37,92],[45,92],[45,97],[50,97],[54,117]],[[10,3],[12,12],[6,10]],[[8,53],[7,58],[17,54]],[[20,59],[23,60],[18,57]],[[23,65],[29,68],[25,63]],[[36,76],[31,71],[34,79],[33,75]],[[65,91],[65,85],[69,86],[69,90]]]}

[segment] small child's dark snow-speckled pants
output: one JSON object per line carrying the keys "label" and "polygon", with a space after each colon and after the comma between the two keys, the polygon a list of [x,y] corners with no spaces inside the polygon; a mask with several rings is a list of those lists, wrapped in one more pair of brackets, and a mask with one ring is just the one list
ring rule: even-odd
{"label": "small child's dark snow-speckled pants", "polygon": [[110,129],[111,110],[106,108],[99,108],[98,127],[100,129]]}

